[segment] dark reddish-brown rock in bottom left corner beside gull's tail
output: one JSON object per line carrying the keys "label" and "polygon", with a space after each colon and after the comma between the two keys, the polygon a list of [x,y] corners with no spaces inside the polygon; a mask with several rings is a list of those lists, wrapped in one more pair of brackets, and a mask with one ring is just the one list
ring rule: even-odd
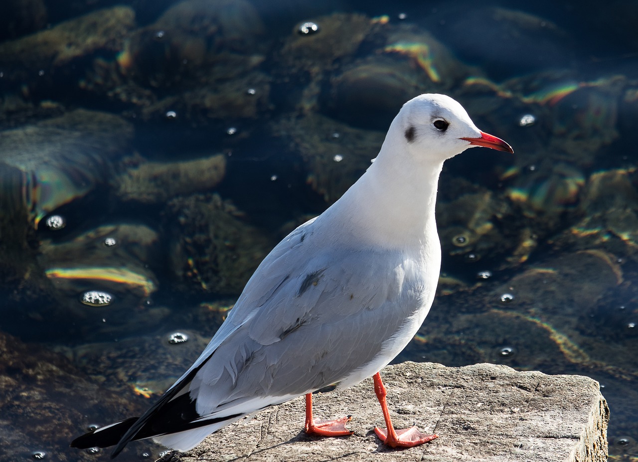
{"label": "dark reddish-brown rock in bottom left corner beside gull's tail", "polygon": [[[138,415],[147,403],[105,389],[91,381],[63,355],[50,348],[22,343],[0,332],[0,458],[26,460],[43,451],[45,460],[93,461],[84,451],[71,451],[73,438],[90,424],[107,424]],[[148,443],[145,444],[148,447]],[[137,460],[124,454],[125,461]]]}

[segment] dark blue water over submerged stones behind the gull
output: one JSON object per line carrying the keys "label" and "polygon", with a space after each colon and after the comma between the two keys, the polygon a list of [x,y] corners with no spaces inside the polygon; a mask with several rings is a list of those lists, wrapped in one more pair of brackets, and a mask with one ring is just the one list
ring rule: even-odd
{"label": "dark blue water over submerged stones behind the gull", "polygon": [[[446,163],[439,295],[396,361],[591,376],[610,459],[633,460],[637,14],[620,1],[3,3],[0,459],[106,460],[68,442],[143,412],[272,246],[364,172],[404,101],[446,93],[516,154]],[[318,31],[300,34],[309,21]]]}

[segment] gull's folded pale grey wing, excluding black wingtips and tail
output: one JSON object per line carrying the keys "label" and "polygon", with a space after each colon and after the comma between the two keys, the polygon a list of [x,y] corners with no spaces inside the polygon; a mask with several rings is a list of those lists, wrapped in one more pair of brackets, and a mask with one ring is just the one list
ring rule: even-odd
{"label": "gull's folded pale grey wing, excluding black wingtips and tail", "polygon": [[338,383],[422,304],[422,279],[402,255],[317,251],[311,237],[292,237],[255,273],[193,378],[199,415],[248,414]]}

